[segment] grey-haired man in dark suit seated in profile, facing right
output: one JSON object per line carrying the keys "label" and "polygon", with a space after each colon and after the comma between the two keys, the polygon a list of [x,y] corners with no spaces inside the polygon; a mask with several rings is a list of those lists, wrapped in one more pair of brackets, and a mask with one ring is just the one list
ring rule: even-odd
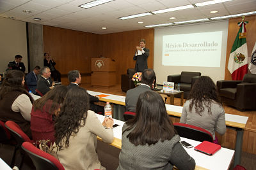
{"label": "grey-haired man in dark suit seated in profile, facing right", "polygon": [[49,67],[43,67],[40,70],[40,76],[38,76],[38,81],[36,89],[45,95],[49,90],[54,88],[55,83],[51,80],[51,71]]}

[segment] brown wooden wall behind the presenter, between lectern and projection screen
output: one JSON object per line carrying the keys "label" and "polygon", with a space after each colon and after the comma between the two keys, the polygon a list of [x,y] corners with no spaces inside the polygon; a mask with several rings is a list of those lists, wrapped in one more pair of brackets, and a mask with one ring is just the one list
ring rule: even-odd
{"label": "brown wooden wall behind the presenter, between lectern and projection screen", "polygon": [[134,68],[135,61],[132,58],[141,38],[146,40],[146,47],[150,50],[148,67],[153,68],[154,29],[99,35],[100,55],[116,61],[116,83],[121,83],[121,74],[126,74],[128,68]]}

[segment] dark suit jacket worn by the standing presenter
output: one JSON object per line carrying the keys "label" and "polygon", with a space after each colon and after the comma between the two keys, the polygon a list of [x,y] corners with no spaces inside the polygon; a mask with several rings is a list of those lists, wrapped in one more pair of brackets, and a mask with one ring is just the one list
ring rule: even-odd
{"label": "dark suit jacket worn by the standing presenter", "polygon": [[149,50],[148,48],[143,48],[144,52],[141,55],[135,55],[133,57],[133,60],[136,60],[136,64],[135,64],[135,72],[143,72],[144,69],[148,68],[148,56],[149,56]]}

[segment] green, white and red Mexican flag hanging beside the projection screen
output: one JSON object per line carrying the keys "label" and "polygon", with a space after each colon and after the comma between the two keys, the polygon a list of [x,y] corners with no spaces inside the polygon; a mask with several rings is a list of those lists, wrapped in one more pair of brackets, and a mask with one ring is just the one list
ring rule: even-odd
{"label": "green, white and red Mexican flag hanging beside the projection screen", "polygon": [[229,55],[228,71],[231,73],[232,80],[243,80],[244,74],[248,72],[248,51],[245,39],[245,24],[248,24],[248,22],[243,21],[238,23],[240,29]]}

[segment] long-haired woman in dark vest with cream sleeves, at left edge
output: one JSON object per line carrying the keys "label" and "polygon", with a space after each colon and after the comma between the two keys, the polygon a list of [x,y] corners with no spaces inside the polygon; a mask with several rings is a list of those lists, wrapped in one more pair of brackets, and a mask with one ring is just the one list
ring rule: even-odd
{"label": "long-haired woman in dark vest with cream sleeves, at left edge", "polygon": [[19,70],[6,74],[0,90],[0,120],[12,120],[31,138],[29,122],[34,100],[24,88],[24,77],[25,74]]}

